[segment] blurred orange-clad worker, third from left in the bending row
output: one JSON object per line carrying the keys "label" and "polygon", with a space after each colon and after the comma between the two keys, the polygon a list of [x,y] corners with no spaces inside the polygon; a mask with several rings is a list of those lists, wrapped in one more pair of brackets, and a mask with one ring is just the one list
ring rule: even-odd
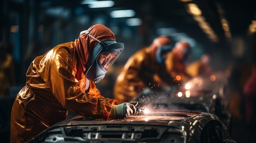
{"label": "blurred orange-clad worker, third from left in the bending row", "polygon": [[178,41],[171,53],[166,57],[166,70],[173,77],[173,83],[181,84],[187,81],[191,76],[186,73],[186,62],[191,53],[191,46],[189,42],[181,40]]}

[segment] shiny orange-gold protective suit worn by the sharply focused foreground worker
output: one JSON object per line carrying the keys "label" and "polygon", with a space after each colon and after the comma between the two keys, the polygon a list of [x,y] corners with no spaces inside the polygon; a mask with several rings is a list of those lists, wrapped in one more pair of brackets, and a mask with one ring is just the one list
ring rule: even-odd
{"label": "shiny orange-gold protective suit worn by the sharply focused foreground worker", "polygon": [[[86,34],[83,36],[84,41],[89,41]],[[29,66],[26,86],[16,96],[11,111],[11,143],[29,141],[51,125],[65,120],[67,110],[86,117],[108,119],[111,106],[117,101],[101,96],[92,81],[85,90],[86,78],[81,64],[79,68],[75,42],[55,46],[36,57]],[[83,55],[85,61],[90,55],[88,51]]]}

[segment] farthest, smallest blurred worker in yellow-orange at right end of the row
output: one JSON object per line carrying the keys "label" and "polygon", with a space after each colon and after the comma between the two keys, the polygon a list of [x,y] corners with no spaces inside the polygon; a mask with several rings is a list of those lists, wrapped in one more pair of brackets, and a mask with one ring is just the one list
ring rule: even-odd
{"label": "farthest, smallest blurred worker in yellow-orange at right end of the row", "polygon": [[200,59],[195,60],[186,67],[186,73],[188,73],[192,77],[204,77],[212,75],[213,71],[211,66],[209,65],[210,58],[211,57],[209,54],[203,54]]}

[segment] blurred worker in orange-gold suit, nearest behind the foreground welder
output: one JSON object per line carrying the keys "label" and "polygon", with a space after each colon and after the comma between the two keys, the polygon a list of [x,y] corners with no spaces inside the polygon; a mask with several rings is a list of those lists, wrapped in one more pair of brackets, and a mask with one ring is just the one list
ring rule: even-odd
{"label": "blurred worker in orange-gold suit, nearest behind the foreground welder", "polygon": [[159,73],[166,70],[164,61],[172,49],[171,44],[170,38],[159,36],[150,46],[140,49],[128,59],[113,89],[118,103],[135,100],[146,88],[154,90],[164,86]]}

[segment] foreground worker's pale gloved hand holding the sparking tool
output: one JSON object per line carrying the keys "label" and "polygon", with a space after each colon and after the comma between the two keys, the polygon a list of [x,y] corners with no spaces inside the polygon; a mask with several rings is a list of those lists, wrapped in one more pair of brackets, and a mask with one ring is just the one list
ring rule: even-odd
{"label": "foreground worker's pale gloved hand holding the sparking tool", "polygon": [[138,105],[138,102],[125,102],[119,105],[112,105],[112,109],[110,110],[110,118],[126,118],[131,114],[137,114],[135,106]]}

